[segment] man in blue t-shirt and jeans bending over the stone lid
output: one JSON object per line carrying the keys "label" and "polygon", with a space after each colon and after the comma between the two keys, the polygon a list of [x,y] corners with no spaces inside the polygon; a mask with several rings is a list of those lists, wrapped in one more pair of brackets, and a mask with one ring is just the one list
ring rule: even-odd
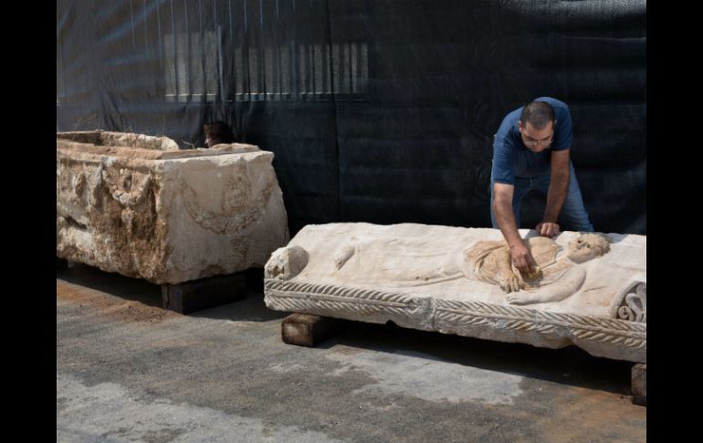
{"label": "man in blue t-shirt and jeans bending over the stone lid", "polygon": [[510,112],[495,135],[490,218],[503,233],[512,263],[521,272],[533,274],[536,265],[518,232],[520,201],[530,190],[547,194],[547,206],[536,227],[540,236],[559,234],[560,213],[568,230],[593,232],[569,157],[572,136],[569,107],[549,97]]}

